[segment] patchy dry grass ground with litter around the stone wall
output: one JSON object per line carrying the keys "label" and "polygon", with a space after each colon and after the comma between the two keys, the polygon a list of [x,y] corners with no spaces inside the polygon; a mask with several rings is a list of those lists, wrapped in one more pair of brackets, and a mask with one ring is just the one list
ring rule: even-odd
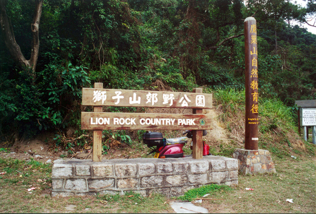
{"label": "patchy dry grass ground with litter around the stone wall", "polygon": [[[277,174],[245,176],[239,174],[239,186],[209,185],[185,193],[185,200],[201,197],[224,200],[203,200],[201,206],[210,213],[315,213],[315,156],[306,153],[279,158],[272,155]],[[170,213],[168,199],[160,194],[142,197],[133,192],[124,196],[51,197],[52,164],[31,160],[0,158],[0,212],[43,213]],[[22,176],[20,176],[22,175]],[[40,179],[40,180],[39,180]],[[28,192],[27,189],[37,187]],[[253,188],[247,191],[245,188]],[[293,199],[294,203],[286,202]],[[193,199],[193,201],[195,201]]]}

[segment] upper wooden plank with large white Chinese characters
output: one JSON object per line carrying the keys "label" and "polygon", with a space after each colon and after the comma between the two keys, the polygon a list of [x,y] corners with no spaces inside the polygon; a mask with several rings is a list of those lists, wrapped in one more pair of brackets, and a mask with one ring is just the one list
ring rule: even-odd
{"label": "upper wooden plank with large white Chinese characters", "polygon": [[211,109],[212,94],[82,88],[82,105]]}

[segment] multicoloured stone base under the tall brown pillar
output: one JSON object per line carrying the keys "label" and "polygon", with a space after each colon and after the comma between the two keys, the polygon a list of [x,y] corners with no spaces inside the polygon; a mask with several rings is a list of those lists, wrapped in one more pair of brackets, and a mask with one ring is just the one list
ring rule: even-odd
{"label": "multicoloured stone base under the tall brown pillar", "polygon": [[238,159],[238,170],[243,174],[276,173],[268,150],[247,150],[237,148],[233,157]]}

